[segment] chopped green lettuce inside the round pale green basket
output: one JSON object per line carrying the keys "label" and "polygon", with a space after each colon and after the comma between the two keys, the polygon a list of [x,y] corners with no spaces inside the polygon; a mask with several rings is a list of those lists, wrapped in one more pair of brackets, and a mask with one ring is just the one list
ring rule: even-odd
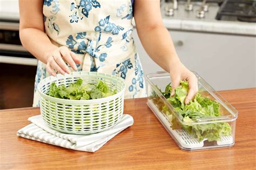
{"label": "chopped green lettuce inside the round pale green basket", "polygon": [[108,97],[117,93],[116,89],[112,91],[102,80],[99,80],[97,84],[82,84],[82,79],[77,79],[68,87],[65,85],[57,86],[56,83],[52,83],[48,95],[60,99],[89,100]]}

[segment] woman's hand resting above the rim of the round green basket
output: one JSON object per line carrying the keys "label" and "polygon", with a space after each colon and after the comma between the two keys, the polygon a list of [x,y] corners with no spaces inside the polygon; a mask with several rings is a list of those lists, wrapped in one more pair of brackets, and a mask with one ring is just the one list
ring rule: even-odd
{"label": "woman's hand resting above the rim of the round green basket", "polygon": [[56,72],[61,74],[70,73],[71,70],[69,69],[68,63],[73,70],[77,71],[77,64],[80,64],[80,60],[77,58],[76,54],[72,51],[69,51],[68,47],[61,46],[61,47],[53,47],[50,51],[46,53],[47,64],[46,70],[52,75],[56,76]]}

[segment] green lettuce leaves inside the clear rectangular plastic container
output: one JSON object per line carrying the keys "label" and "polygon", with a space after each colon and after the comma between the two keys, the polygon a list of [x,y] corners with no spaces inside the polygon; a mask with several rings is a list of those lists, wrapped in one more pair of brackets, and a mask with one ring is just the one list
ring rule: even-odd
{"label": "green lettuce leaves inside the clear rectangular plastic container", "polygon": [[[183,128],[188,133],[192,134],[199,141],[207,139],[208,141],[218,141],[221,136],[231,135],[231,126],[228,123],[209,123],[200,125],[189,125],[193,122],[197,122],[200,118],[207,117],[219,117],[220,116],[220,104],[217,101],[213,101],[207,97],[202,96],[200,93],[196,94],[193,100],[185,105],[184,101],[188,93],[188,82],[180,81],[180,85],[176,87],[175,94],[172,97],[171,84],[168,84],[165,91],[162,92],[164,97],[174,107],[183,118],[184,123],[178,123],[175,115],[171,113],[169,108],[164,104],[159,104],[160,98],[154,97],[153,102],[157,104],[158,108],[167,115],[169,121],[172,122],[172,128]],[[185,125],[185,123],[187,123]],[[180,124],[180,126],[178,125]]]}

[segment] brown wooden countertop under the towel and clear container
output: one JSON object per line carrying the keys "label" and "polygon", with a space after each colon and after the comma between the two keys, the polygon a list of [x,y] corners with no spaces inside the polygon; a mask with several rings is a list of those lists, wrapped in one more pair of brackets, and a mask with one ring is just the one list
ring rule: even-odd
{"label": "brown wooden countertop under the towel and clear container", "polygon": [[134,125],[95,153],[73,151],[19,138],[39,108],[0,111],[0,169],[254,169],[256,89],[220,92],[237,110],[235,145],[230,148],[185,152],[146,105],[146,99],[125,100],[125,113]]}

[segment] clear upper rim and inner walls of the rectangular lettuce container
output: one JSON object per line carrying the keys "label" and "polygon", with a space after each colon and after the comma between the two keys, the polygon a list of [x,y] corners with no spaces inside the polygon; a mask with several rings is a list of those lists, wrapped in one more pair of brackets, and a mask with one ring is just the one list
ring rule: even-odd
{"label": "clear upper rim and inner walls of the rectangular lettuce container", "polygon": [[[164,104],[172,111],[176,118],[184,125],[198,125],[198,124],[209,124],[209,123],[221,123],[234,121],[238,117],[238,111],[227,102],[217,91],[215,91],[203,78],[199,76],[198,73],[192,71],[197,79],[199,86],[199,93],[207,98],[217,101],[220,104],[220,116],[219,117],[205,117],[192,119],[192,122],[184,121],[183,116],[179,114],[174,107],[169,103],[169,101],[163,96],[159,87],[165,87],[171,82],[170,74],[167,72],[157,72],[147,74],[146,80],[150,84],[152,90],[156,92],[157,96],[164,102]],[[163,88],[161,88],[163,89]]]}

